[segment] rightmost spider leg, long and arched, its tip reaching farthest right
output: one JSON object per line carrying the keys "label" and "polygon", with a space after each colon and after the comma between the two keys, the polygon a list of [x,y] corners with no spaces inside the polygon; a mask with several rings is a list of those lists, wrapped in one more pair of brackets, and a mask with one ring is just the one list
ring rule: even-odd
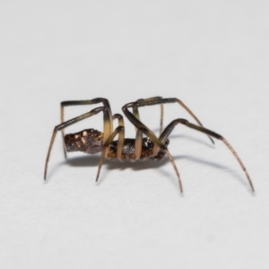
{"label": "rightmost spider leg, long and arched, its tip reaching farthest right", "polygon": [[194,124],[191,124],[187,121],[187,119],[184,119],[184,118],[178,118],[178,119],[175,119],[173,120],[169,126],[167,126],[164,131],[162,132],[161,136],[160,136],[160,142],[161,143],[164,143],[168,137],[169,137],[169,134],[173,131],[174,127],[177,126],[179,124],[182,124],[184,126],[187,126],[191,129],[195,129],[196,131],[199,131],[201,133],[204,133],[204,134],[208,134],[210,136],[213,136],[214,138],[216,139],[219,139],[221,140],[223,143],[226,144],[226,146],[229,148],[230,152],[233,154],[233,156],[237,159],[237,161],[239,161],[239,165],[241,166],[241,168],[243,169],[243,171],[245,172],[246,176],[247,176],[247,181],[252,189],[252,191],[254,192],[254,186],[252,184],[252,181],[247,173],[247,169],[246,167],[244,166],[243,162],[241,161],[241,159],[239,158],[239,155],[238,153],[232,148],[232,146],[230,145],[230,143],[228,143],[228,141],[223,137],[221,136],[221,134],[217,134],[209,129],[206,129],[204,128],[203,126],[196,126]]}

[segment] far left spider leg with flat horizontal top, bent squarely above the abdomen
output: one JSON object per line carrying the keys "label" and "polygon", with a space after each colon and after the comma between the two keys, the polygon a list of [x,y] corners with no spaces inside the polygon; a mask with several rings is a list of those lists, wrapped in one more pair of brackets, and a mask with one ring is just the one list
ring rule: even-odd
{"label": "far left spider leg with flat horizontal top, bent squarely above the abdomen", "polygon": [[[104,107],[108,108],[108,117],[109,117],[109,125],[106,125],[106,131],[107,134],[111,134],[113,131],[113,126],[112,126],[112,116],[111,116],[111,108],[109,105],[109,101],[104,98],[95,98],[92,100],[70,100],[70,101],[62,101],[61,102],[61,124],[64,123],[64,116],[65,116],[65,107],[70,107],[70,106],[82,106],[82,105],[95,105],[102,103]],[[108,132],[109,129],[109,132]],[[105,128],[104,128],[105,130]],[[64,137],[65,137],[65,132],[62,130],[62,137],[63,137],[63,148],[64,148],[64,153],[65,153],[65,159],[66,159],[66,151],[65,151],[65,143],[64,143]],[[105,132],[104,132],[105,133]]]}

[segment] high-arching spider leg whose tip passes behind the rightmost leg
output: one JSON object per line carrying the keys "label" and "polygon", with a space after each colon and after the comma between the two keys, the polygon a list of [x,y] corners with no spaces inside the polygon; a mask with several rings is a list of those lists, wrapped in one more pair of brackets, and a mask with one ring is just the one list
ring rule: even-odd
{"label": "high-arching spider leg whose tip passes behind the rightmost leg", "polygon": [[[187,108],[187,106],[181,101],[178,100],[177,98],[165,98],[165,99],[161,99],[160,97],[155,97],[149,100],[139,100],[136,102],[131,102],[126,104],[122,110],[125,113],[126,117],[131,121],[131,123],[135,126],[135,127],[139,127],[141,126],[142,122],[140,121],[139,118],[137,118],[134,113],[131,113],[128,108],[138,108],[138,107],[145,107],[145,106],[152,106],[152,105],[160,105],[160,104],[166,104],[166,103],[178,103],[181,107],[185,108],[187,110],[187,112],[194,117],[195,121],[197,122],[197,124],[199,126],[202,126],[202,123],[200,122],[200,120],[195,116],[195,114],[189,109]],[[145,128],[147,128],[146,126],[143,126]],[[148,128],[147,128],[148,129]],[[213,139],[212,137],[210,137],[210,135],[208,135],[209,139],[211,140],[212,143]],[[156,152],[157,150],[155,150]]]}

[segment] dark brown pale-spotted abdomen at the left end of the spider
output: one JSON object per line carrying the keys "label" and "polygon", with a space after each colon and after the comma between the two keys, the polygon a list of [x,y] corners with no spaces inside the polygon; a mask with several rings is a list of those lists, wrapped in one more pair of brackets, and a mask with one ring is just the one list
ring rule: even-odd
{"label": "dark brown pale-spotted abdomen at the left end of the spider", "polygon": [[94,129],[86,129],[75,134],[65,134],[67,152],[85,152],[94,154],[101,152],[103,133]]}

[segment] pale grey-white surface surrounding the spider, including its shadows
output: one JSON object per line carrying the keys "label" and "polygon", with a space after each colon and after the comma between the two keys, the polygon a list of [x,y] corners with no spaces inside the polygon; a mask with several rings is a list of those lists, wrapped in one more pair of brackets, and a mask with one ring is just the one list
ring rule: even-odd
{"label": "pale grey-white surface surrounding the spider, including its shadows", "polygon": [[[268,268],[268,1],[1,1],[1,268]],[[61,100],[178,97],[230,152],[178,126],[169,161],[69,154]],[[66,118],[90,107],[68,108]],[[158,130],[158,107],[143,108]],[[191,119],[165,106],[165,124]],[[69,132],[101,128],[85,120]],[[126,120],[126,134],[134,128]]]}

